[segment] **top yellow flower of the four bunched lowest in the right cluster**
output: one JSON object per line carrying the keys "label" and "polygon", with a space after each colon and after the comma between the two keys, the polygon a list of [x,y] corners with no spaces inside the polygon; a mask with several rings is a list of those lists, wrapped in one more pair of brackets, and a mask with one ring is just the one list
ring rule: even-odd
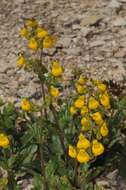
{"label": "top yellow flower of the four bunched lowest in the right cluster", "polygon": [[81,133],[77,142],[78,149],[87,149],[90,147],[90,141]]}

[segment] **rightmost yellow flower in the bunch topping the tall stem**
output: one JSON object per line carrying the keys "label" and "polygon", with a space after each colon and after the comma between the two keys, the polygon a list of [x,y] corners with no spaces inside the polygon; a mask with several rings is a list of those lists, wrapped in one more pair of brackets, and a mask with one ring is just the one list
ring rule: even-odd
{"label": "rightmost yellow flower in the bunch topping the tall stem", "polygon": [[56,42],[56,38],[54,36],[45,36],[43,40],[43,48],[52,48]]}

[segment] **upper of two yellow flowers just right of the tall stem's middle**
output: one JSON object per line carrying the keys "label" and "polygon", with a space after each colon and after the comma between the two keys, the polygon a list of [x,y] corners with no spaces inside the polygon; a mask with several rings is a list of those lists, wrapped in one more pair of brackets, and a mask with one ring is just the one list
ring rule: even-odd
{"label": "upper of two yellow flowers just right of the tall stem's middle", "polygon": [[61,67],[60,62],[59,61],[53,61],[51,74],[54,77],[59,77],[62,75],[62,73],[63,73],[63,68]]}

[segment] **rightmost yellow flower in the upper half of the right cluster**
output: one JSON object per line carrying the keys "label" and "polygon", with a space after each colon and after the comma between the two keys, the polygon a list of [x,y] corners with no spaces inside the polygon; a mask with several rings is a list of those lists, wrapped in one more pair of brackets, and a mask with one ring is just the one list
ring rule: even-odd
{"label": "rightmost yellow flower in the upper half of the right cluster", "polygon": [[101,95],[100,102],[106,109],[110,108],[110,97],[107,92]]}

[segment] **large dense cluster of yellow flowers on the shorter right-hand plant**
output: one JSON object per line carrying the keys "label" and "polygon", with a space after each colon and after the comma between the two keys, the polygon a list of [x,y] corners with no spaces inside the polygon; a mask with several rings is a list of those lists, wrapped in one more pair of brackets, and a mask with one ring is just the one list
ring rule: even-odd
{"label": "large dense cluster of yellow flowers on the shorter right-hand plant", "polygon": [[106,84],[80,76],[75,83],[75,96],[69,111],[79,119],[76,146],[69,145],[68,154],[80,163],[87,163],[103,154],[103,140],[109,134],[106,112],[111,108]]}

